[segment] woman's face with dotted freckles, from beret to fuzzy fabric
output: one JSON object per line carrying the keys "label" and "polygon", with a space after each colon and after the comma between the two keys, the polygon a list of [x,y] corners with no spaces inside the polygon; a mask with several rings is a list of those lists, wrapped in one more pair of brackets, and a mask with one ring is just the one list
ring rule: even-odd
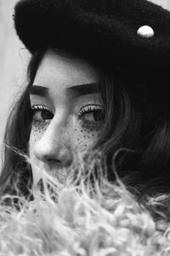
{"label": "woman's face with dotted freckles, from beret to fuzzy fabric", "polygon": [[96,143],[103,112],[98,81],[97,71],[86,61],[52,50],[44,55],[30,91],[29,154],[35,184],[42,167],[65,180],[77,154],[83,156]]}

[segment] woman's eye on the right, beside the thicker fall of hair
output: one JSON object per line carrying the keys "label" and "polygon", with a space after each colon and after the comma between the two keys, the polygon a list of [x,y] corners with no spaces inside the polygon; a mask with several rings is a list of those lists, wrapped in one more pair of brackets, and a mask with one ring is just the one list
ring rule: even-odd
{"label": "woman's eye on the right, beside the thicker fall of hair", "polygon": [[100,105],[87,105],[80,109],[78,119],[81,119],[87,128],[99,128],[105,119],[104,108]]}

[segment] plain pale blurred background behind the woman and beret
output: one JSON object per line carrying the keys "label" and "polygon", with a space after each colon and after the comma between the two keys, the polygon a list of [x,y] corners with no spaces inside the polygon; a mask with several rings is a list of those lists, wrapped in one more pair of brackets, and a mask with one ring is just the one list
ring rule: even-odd
{"label": "plain pale blurred background behind the woman and beret", "polygon": [[[18,91],[26,86],[26,64],[30,57],[14,32],[13,11],[16,2],[18,0],[0,0],[0,154],[9,109]],[[150,2],[170,9],[170,0]]]}

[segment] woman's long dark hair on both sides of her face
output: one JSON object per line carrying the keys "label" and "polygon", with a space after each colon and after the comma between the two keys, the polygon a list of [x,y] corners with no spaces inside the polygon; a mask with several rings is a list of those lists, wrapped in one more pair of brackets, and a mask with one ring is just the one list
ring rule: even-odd
{"label": "woman's long dark hair on both sides of her face", "polygon": [[[29,90],[46,50],[40,49],[32,55],[28,84],[8,118],[1,195],[14,195],[19,191],[21,195],[29,195],[31,166],[14,149],[27,153],[31,132]],[[140,195],[169,192],[170,127],[167,119],[162,121],[156,117],[146,86],[115,67],[112,72],[100,71],[99,90],[105,105],[105,124],[96,147],[107,157],[108,179],[115,179],[114,158],[118,175],[130,188],[139,189]]]}

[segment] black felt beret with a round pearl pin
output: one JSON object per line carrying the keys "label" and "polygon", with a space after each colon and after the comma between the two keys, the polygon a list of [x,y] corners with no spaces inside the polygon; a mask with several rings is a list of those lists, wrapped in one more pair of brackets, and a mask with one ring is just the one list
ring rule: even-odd
{"label": "black felt beret with a round pearl pin", "polygon": [[[51,46],[131,74],[136,86],[143,81],[150,90],[156,109],[168,113],[170,12],[161,6],[146,0],[20,0],[14,26],[32,54]],[[141,26],[154,34],[142,35]]]}

